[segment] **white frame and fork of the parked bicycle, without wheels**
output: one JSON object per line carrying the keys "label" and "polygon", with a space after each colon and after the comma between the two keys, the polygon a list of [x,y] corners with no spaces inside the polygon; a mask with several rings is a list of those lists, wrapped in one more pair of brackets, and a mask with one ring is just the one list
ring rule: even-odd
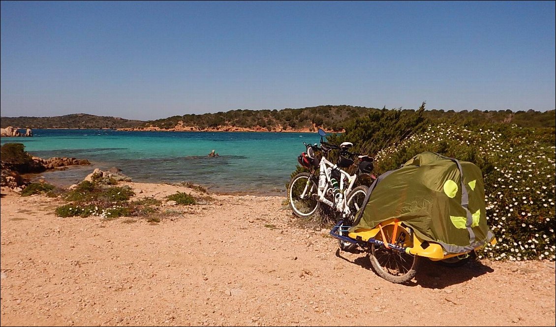
{"label": "white frame and fork of the parked bicycle, without wheels", "polygon": [[[334,204],[334,202],[328,200],[325,198],[326,192],[331,189],[332,187],[332,176],[331,173],[328,172],[327,168],[330,167],[331,170],[337,170],[340,172],[340,180],[338,181],[339,183],[339,191],[340,191],[340,201],[338,201],[337,204]],[[346,217],[349,216],[351,214],[349,207],[346,205],[347,203],[347,195],[351,192],[351,188],[353,187],[353,185],[355,184],[355,180],[357,179],[357,174],[355,175],[349,175],[347,174],[347,172],[345,172],[344,170],[338,168],[337,165],[335,165],[334,163],[326,160],[326,158],[324,156],[322,156],[320,162],[319,162],[319,170],[320,171],[324,171],[324,174],[326,176],[326,185],[324,187],[324,190],[320,190],[319,187],[317,187],[317,194],[319,195],[319,202],[322,202],[332,208],[336,208],[338,211],[342,212],[342,216]],[[312,174],[315,174],[314,170],[312,172]],[[346,189],[344,189],[344,178],[342,177],[346,177],[347,181],[349,182],[348,186]],[[307,192],[307,189],[310,185],[310,180],[307,181],[307,185],[305,186],[305,189],[303,190],[303,192],[301,193],[301,199],[305,199],[305,194]]]}

